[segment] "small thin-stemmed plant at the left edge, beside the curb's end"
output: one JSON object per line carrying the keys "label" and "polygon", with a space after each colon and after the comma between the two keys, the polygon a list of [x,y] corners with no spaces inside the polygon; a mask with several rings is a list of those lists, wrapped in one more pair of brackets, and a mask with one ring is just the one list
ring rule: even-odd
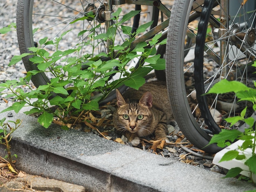
{"label": "small thin-stemmed plant at the left edge, beside the curb's end", "polygon": [[[7,150],[7,158],[9,160],[9,169],[13,167],[13,156],[17,158],[17,155],[11,155],[11,146],[10,146],[10,141],[11,141],[11,134],[20,127],[22,121],[20,119],[17,119],[16,121],[8,121],[8,123],[5,123],[6,118],[3,118],[0,120],[0,144],[5,145],[6,150]],[[13,123],[15,126],[12,127],[9,123]]]}

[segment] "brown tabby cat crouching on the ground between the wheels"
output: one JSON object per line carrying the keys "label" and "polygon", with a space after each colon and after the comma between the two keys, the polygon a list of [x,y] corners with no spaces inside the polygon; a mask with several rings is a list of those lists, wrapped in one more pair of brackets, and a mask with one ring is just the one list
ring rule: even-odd
{"label": "brown tabby cat crouching on the ground between the wheels", "polygon": [[139,145],[139,138],[143,136],[155,136],[157,140],[169,142],[166,138],[167,125],[174,118],[165,82],[152,81],[139,90],[128,89],[124,96],[118,90],[116,93],[114,125],[133,146]]}

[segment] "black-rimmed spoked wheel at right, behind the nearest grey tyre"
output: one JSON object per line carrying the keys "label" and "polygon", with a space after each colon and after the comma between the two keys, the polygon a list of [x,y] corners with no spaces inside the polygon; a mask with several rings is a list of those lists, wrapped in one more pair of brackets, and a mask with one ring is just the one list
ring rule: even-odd
{"label": "black-rimmed spoked wheel at right, behind the nearest grey tyre", "polygon": [[[209,90],[215,83],[221,79],[236,80],[244,83],[248,87],[254,87],[255,77],[253,72],[256,71],[252,64],[256,59],[256,2],[253,0],[242,1],[237,0],[229,4],[228,1],[218,2],[218,8],[221,16],[211,15],[213,9],[212,0],[205,0],[205,11],[201,15],[198,25],[198,36],[195,46],[195,89],[199,100],[199,107],[204,114],[206,124],[213,133],[219,133],[220,127],[216,124],[209,112],[209,107],[206,102],[206,96],[202,95]],[[211,21],[218,20],[219,25],[216,25],[212,41],[207,42],[208,49],[213,49],[213,45],[219,45],[220,60],[218,63],[218,71],[211,76],[210,79],[205,79],[203,76],[204,66],[204,46],[199,42],[204,42],[207,26]],[[227,94],[218,94],[215,96],[215,102],[212,106],[217,105],[218,101],[223,100]],[[235,94],[229,94],[229,102],[232,107],[226,111],[226,117],[240,115],[241,109],[247,106],[246,116],[254,117],[252,104],[247,102],[238,102]],[[211,108],[210,108],[211,109]],[[223,122],[221,128],[238,129],[244,131],[246,124],[238,122],[236,126],[230,127],[230,124]]]}

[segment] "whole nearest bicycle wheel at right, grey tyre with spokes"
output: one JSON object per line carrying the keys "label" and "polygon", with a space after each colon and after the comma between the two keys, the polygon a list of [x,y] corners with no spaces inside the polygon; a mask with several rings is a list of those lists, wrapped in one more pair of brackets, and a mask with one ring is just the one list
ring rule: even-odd
{"label": "whole nearest bicycle wheel at right, grey tyre with spokes", "polygon": [[[255,27],[255,23],[253,22],[255,15],[254,11],[245,11],[241,5],[241,1],[238,1],[238,7],[236,7],[236,9],[234,9],[234,7],[232,8],[232,11],[234,11],[231,14],[231,16],[234,16],[233,19],[229,18],[229,22],[227,22],[228,24],[225,27],[226,31],[223,32],[222,30],[225,37],[223,36],[221,38],[220,35],[216,34],[218,32],[216,29],[222,29],[220,26],[223,25],[223,10],[226,10],[224,15],[230,14],[230,12],[227,11],[229,4],[223,5],[222,2],[226,1],[213,1],[211,2],[214,7],[213,9],[206,9],[206,7],[203,9],[201,5],[204,3],[204,6],[206,6],[207,1],[175,1],[170,18],[166,47],[166,78],[171,106],[173,108],[176,121],[183,134],[191,143],[210,153],[216,153],[221,150],[217,145],[209,145],[205,147],[209,143],[212,135],[219,132],[220,128],[231,128],[227,122],[222,120],[222,118],[230,116],[231,114],[236,114],[239,110],[243,109],[243,105],[246,105],[246,103],[243,103],[243,105],[236,104],[236,97],[231,94],[225,94],[222,96],[209,95],[204,100],[204,109],[208,111],[208,113],[205,114],[205,112],[203,110],[200,111],[198,107],[198,103],[200,104],[202,102],[202,98],[198,96],[202,93],[198,92],[198,90],[195,92],[195,85],[199,85],[198,81],[195,83],[194,78],[199,79],[201,81],[200,86],[207,91],[212,85],[214,85],[214,83],[218,82],[223,77],[222,71],[224,71],[224,69],[228,69],[226,70],[229,71],[228,74],[231,74],[232,71],[237,71],[236,74],[240,73],[240,79],[246,79],[245,74],[248,73],[243,73],[242,69],[245,71],[244,69],[247,68],[245,66],[249,66],[251,64],[250,61],[254,60],[254,46],[252,45],[254,43],[251,43],[249,47],[250,51],[245,50],[245,47],[248,49],[248,43],[246,42],[244,45],[242,45],[243,43],[240,43],[240,45],[242,45],[240,46],[240,49],[238,49],[239,46],[238,44],[235,45],[234,41],[226,44],[223,43],[223,41],[227,39],[235,39],[236,43],[238,41],[242,42],[243,40],[240,38],[231,38],[234,36],[234,33],[238,33],[238,31],[240,31],[240,34],[243,34],[243,37],[248,37],[249,34],[253,34],[252,28]],[[233,3],[234,2],[232,1],[232,4]],[[201,31],[199,31],[198,26],[199,16],[201,13],[206,12],[211,13],[214,17],[209,17],[209,20],[207,19],[207,22],[204,23],[204,25],[207,26],[207,30],[204,31],[204,34],[200,35]],[[238,18],[239,16],[243,16],[243,20]],[[240,27],[236,27],[239,23]],[[232,28],[230,28],[231,26]],[[245,31],[248,31],[246,32],[247,35]],[[181,33],[182,35],[180,35]],[[197,74],[198,69],[194,66],[195,46],[192,46],[188,56],[184,57],[184,43],[181,44],[180,42],[186,42],[186,36],[194,37],[194,42],[195,38],[201,37],[200,39],[197,39],[197,46],[203,47],[205,58],[203,68],[201,67],[200,69],[201,76]],[[228,44],[230,45],[229,49],[227,49]],[[226,52],[223,52],[223,50],[226,50]],[[224,59],[221,60],[221,58]],[[226,67],[223,65],[224,60],[229,64],[225,65]],[[240,62],[242,60],[247,64],[242,65],[242,67],[238,67],[239,65],[241,66]],[[194,72],[195,74],[193,74]],[[225,77],[227,77],[228,74],[226,74]],[[238,77],[236,74],[233,77]],[[231,75],[229,75],[229,77],[231,77]],[[195,94],[197,95],[198,103],[191,106],[191,103],[194,103]],[[214,116],[214,118],[212,118],[212,116]],[[222,118],[220,116],[222,116]],[[215,129],[208,123],[209,121],[207,120],[209,118],[214,121],[214,125],[216,125]],[[205,123],[205,120],[207,123]],[[239,126],[240,125],[238,125],[238,127]]]}

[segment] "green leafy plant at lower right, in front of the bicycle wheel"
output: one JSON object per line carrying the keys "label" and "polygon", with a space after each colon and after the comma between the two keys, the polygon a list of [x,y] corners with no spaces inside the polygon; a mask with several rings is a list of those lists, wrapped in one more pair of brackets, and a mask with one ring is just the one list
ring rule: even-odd
{"label": "green leafy plant at lower right, in front of the bicycle wheel", "polygon": [[[255,64],[254,64],[255,65]],[[254,86],[256,87],[256,82],[254,82]],[[247,87],[243,83],[238,81],[228,81],[221,80],[219,83],[216,83],[210,90],[209,93],[223,94],[228,92],[234,92],[239,101],[246,100],[252,102],[253,110],[256,110],[256,89]],[[240,113],[240,116],[234,116],[226,118],[225,120],[231,123],[233,126],[238,121],[243,121],[248,125],[248,128],[245,129],[245,132],[240,132],[236,129],[222,129],[219,134],[215,134],[209,144],[217,143],[219,147],[226,147],[234,142],[235,140],[243,140],[243,144],[238,146],[238,150],[230,150],[224,154],[221,161],[230,161],[232,159],[243,160],[245,161],[245,165],[249,167],[250,179],[252,182],[252,175],[256,175],[256,129],[255,129],[255,120],[253,117],[246,117],[247,106]],[[230,126],[230,127],[231,127]],[[251,156],[247,156],[245,154],[245,150],[250,149],[252,151]],[[227,172],[225,177],[235,177],[240,172],[243,171],[240,167],[235,167]],[[256,183],[254,183],[256,184]]]}

